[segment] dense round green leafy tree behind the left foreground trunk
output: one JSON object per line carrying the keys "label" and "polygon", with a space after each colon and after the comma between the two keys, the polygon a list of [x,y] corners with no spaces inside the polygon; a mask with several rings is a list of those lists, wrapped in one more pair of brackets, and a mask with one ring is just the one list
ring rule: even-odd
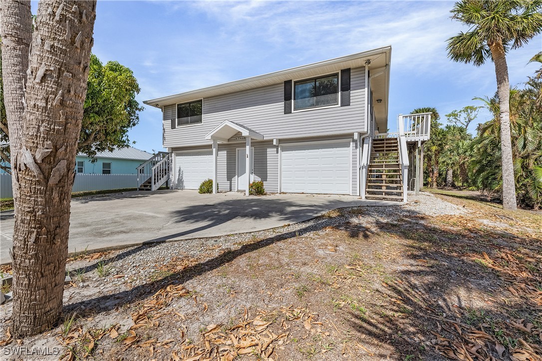
{"label": "dense round green leafy tree behind the left foreground trunk", "polygon": [[[0,87],[1,79],[0,67]],[[103,65],[97,56],[91,55],[87,87],[78,153],[95,159],[98,152],[130,145],[128,130],[139,122],[138,113],[143,107],[135,100],[140,89],[132,70],[116,61]],[[9,129],[2,90],[0,88],[0,167],[10,173]]]}

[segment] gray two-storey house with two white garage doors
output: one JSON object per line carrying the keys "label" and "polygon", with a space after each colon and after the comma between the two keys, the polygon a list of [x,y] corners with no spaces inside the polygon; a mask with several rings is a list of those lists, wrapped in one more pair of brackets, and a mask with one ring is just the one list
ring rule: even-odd
{"label": "gray two-storey house with two white garage doors", "polygon": [[399,116],[386,133],[390,56],[383,47],[145,101],[163,111],[170,155],[157,155],[162,170],[147,182],[197,189],[211,178],[214,192],[248,194],[261,180],[267,192],[406,200],[422,181],[430,118]]}

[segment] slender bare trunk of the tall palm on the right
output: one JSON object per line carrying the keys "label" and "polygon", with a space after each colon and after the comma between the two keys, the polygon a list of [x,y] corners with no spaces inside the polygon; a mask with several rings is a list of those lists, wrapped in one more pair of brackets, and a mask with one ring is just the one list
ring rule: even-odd
{"label": "slender bare trunk of the tall palm on the right", "polygon": [[501,122],[501,167],[502,167],[502,206],[505,209],[516,209],[514,165],[512,160],[512,135],[510,132],[510,84],[508,82],[508,65],[502,42],[489,45],[495,75],[497,94],[499,96],[499,120]]}

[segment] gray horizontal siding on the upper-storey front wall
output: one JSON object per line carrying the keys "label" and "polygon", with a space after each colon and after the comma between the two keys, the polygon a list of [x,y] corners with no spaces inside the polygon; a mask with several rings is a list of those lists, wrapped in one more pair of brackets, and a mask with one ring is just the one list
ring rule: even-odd
{"label": "gray horizontal siding on the upper-storey front wall", "polygon": [[163,109],[164,147],[208,145],[224,120],[242,124],[264,139],[362,132],[365,127],[365,68],[351,70],[351,105],[284,114],[283,83],[203,99],[203,123],[171,129],[176,104]]}

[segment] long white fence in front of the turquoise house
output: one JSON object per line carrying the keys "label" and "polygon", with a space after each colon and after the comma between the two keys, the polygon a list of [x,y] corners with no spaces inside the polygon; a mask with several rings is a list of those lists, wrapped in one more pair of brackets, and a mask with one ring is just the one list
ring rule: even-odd
{"label": "long white fence in front of the turquoise house", "polygon": [[[137,188],[137,174],[75,174],[73,192]],[[11,174],[0,174],[0,198],[13,196]]]}

